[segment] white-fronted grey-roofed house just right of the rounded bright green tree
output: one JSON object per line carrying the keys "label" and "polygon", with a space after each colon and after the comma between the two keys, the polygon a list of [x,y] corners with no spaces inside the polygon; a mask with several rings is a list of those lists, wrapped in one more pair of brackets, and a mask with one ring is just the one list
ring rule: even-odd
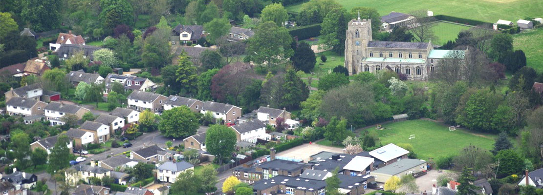
{"label": "white-fronted grey-roofed house just right of the rounded bright green tree", "polygon": [[256,143],[257,139],[270,140],[271,136],[266,133],[266,125],[261,121],[247,121],[242,124],[231,126],[236,133],[237,141]]}

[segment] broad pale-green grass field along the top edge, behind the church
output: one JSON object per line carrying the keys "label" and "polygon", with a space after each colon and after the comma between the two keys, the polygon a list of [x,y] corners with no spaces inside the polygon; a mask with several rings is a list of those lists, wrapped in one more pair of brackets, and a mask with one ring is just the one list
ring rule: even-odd
{"label": "broad pale-green grass field along the top edge, behind the church", "polygon": [[[543,16],[543,1],[540,0],[336,0],[347,10],[355,6],[368,6],[377,9],[381,16],[390,11],[412,12],[430,10],[434,15],[449,15],[496,22],[498,19],[517,21],[525,17]],[[287,6],[287,10],[297,12],[301,4]]]}

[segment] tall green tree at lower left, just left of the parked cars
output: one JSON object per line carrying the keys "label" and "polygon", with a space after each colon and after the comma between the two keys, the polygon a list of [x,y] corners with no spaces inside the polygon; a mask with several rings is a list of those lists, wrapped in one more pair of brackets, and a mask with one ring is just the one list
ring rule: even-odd
{"label": "tall green tree at lower left, just left of the parked cars", "polygon": [[47,173],[53,174],[70,166],[70,148],[68,148],[69,143],[70,139],[68,139],[66,135],[59,135],[55,146],[50,149],[51,153],[49,154],[49,166],[47,166]]}

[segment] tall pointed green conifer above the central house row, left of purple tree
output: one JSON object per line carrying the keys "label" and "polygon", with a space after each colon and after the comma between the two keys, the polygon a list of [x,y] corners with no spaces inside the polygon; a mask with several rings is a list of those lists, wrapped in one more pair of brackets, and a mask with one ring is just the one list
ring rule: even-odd
{"label": "tall pointed green conifer above the central house row, left of purple tree", "polygon": [[175,71],[176,81],[181,84],[182,92],[185,94],[193,93],[196,89],[196,67],[192,65],[191,57],[187,53],[182,52],[179,55],[178,69]]}

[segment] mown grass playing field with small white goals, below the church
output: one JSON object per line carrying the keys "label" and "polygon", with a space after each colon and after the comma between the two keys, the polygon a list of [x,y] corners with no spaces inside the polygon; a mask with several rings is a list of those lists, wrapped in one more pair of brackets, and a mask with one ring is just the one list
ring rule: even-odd
{"label": "mown grass playing field with small white goals, below the church", "polygon": [[[457,129],[449,131],[445,125],[427,120],[408,120],[393,122],[383,125],[386,129],[375,130],[380,136],[381,144],[411,144],[419,159],[444,157],[457,154],[465,146],[470,144],[491,150],[494,145],[495,135],[478,134]],[[409,139],[409,135],[415,135],[415,139]]]}

